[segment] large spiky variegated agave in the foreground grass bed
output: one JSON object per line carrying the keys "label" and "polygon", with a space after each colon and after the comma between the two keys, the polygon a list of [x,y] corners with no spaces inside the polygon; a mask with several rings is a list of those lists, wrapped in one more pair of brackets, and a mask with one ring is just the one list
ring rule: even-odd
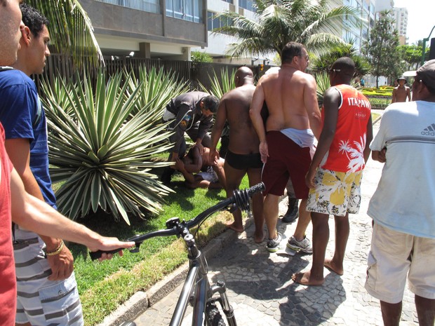
{"label": "large spiky variegated agave in the foreground grass bed", "polygon": [[128,79],[123,83],[119,73],[106,83],[105,72],[100,72],[95,91],[86,74],[76,85],[58,80],[61,86],[55,90],[67,97],[63,107],[55,91],[43,85],[51,177],[53,182],[65,181],[56,196],[59,210],[71,219],[100,207],[129,224],[128,212],[140,217],[142,208],[158,212],[170,191],[150,172],[167,164],[149,161],[169,147],[153,146],[169,137],[165,125],[156,123],[161,109],[153,100],[133,114],[143,88],[129,91]]}

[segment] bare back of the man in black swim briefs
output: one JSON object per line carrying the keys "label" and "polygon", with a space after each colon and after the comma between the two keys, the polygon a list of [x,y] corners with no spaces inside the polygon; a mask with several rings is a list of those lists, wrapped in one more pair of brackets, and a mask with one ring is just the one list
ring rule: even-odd
{"label": "bare back of the man in black swim briefs", "polygon": [[255,86],[235,88],[222,98],[229,123],[229,150],[235,154],[258,153],[257,133],[250,121],[249,107]]}

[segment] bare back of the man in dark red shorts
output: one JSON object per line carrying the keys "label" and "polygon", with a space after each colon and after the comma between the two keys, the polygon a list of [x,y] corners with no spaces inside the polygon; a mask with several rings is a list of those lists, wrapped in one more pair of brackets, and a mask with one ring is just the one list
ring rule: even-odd
{"label": "bare back of the man in dark red shorts", "polygon": [[269,110],[267,131],[309,128],[307,108],[304,106],[304,90],[308,76],[291,67],[282,67],[278,72],[262,78]]}

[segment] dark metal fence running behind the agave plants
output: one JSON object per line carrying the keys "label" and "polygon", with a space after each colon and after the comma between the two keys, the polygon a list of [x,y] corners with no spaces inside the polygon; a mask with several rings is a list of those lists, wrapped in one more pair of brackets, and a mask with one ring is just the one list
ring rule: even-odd
{"label": "dark metal fence running behind the agave plants", "polygon": [[[210,90],[210,76],[217,76],[218,80],[222,79],[222,71],[227,70],[229,74],[238,67],[234,64],[192,62],[192,61],[176,61],[176,60],[158,60],[158,59],[142,59],[134,57],[112,57],[105,58],[105,70],[107,76],[116,72],[122,72],[126,69],[127,72],[134,72],[138,76],[140,67],[146,67],[147,70],[155,67],[157,70],[163,69],[163,72],[175,72],[180,82],[186,82],[190,90],[201,90],[203,85],[207,90]],[[253,73],[258,76],[258,67],[250,67]],[[87,76],[91,80],[96,80],[98,68],[95,67],[74,67],[71,57],[59,54],[52,54],[47,57],[46,69],[41,76],[34,76],[36,86],[39,88],[41,78],[46,78],[47,81],[53,82],[56,76],[65,77],[65,79],[76,81],[81,77],[81,72],[86,71]]]}

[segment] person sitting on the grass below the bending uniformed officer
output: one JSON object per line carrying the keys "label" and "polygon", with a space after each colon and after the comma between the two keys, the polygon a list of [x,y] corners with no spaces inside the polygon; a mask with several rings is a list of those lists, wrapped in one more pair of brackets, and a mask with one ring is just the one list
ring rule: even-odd
{"label": "person sitting on the grass below the bending uniformed officer", "polygon": [[199,148],[194,146],[183,158],[175,160],[175,170],[178,170],[185,177],[186,186],[191,189],[225,188],[225,172],[223,158],[210,161],[210,149],[204,147],[203,154]]}

